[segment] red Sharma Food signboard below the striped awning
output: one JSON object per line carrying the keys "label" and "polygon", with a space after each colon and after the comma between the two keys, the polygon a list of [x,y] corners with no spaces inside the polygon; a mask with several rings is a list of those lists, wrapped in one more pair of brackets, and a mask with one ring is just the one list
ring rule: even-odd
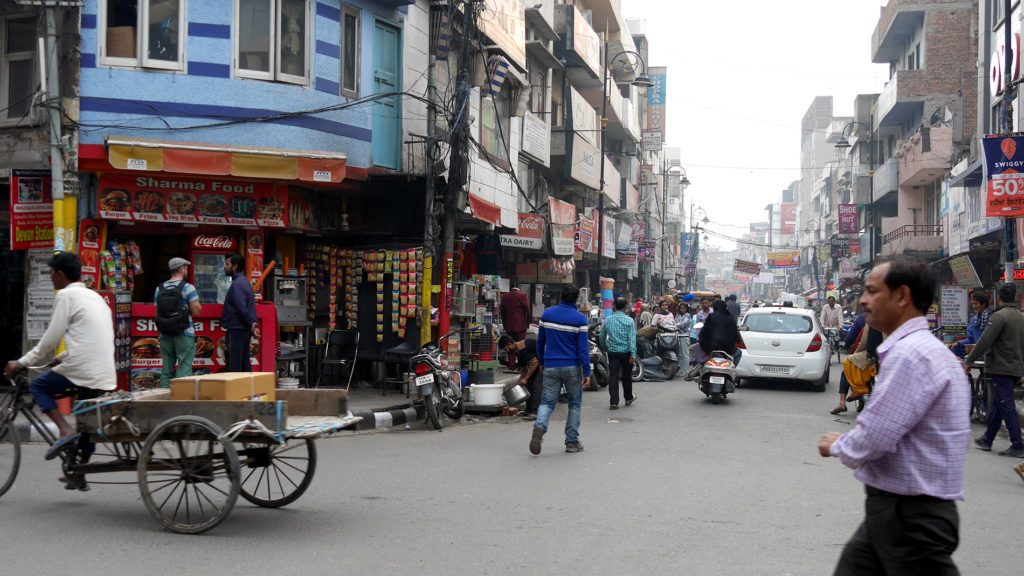
{"label": "red Sharma Food signboard below the striped awning", "polygon": [[104,174],[99,217],[113,220],[285,228],[288,190],[269,182]]}

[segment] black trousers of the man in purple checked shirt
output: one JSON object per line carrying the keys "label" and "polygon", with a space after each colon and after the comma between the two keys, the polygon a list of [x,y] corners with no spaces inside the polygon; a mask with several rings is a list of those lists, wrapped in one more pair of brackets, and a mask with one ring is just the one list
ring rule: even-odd
{"label": "black trousers of the man in purple checked shirt", "polygon": [[835,576],[959,574],[952,560],[959,544],[955,502],[865,488],[866,517],[846,543]]}

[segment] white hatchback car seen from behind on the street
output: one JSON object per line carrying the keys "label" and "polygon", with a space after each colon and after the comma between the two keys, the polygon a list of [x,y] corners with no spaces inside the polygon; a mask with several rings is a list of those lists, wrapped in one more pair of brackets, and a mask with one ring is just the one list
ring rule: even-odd
{"label": "white hatchback car seen from behind on the street", "polygon": [[743,352],[737,378],[801,380],[815,390],[825,389],[831,349],[813,311],[751,308],[740,322],[739,337]]}

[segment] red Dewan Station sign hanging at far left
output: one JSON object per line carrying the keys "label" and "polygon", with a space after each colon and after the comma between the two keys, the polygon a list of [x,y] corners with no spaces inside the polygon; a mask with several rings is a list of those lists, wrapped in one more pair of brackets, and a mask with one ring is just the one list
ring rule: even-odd
{"label": "red Dewan Station sign hanging at far left", "polygon": [[49,170],[10,172],[10,249],[53,248]]}

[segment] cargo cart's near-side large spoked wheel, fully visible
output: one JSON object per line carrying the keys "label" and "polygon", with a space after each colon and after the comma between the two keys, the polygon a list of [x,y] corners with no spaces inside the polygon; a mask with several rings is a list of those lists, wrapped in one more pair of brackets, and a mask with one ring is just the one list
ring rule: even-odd
{"label": "cargo cart's near-side large spoked wheel, fully visible", "polygon": [[199,534],[220,524],[239,497],[239,455],[206,418],[178,416],[157,426],[138,458],[138,488],[164,527]]}

